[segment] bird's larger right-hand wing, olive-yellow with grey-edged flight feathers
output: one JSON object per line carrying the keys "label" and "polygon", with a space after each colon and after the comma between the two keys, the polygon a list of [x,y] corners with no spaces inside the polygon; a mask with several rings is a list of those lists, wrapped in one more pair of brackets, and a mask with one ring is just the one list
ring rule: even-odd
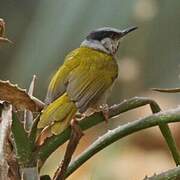
{"label": "bird's larger right-hand wing, olive-yellow with grey-edged flight feathers", "polygon": [[[100,61],[97,59],[97,61]],[[98,63],[102,63],[98,66]],[[109,68],[111,67],[111,68]],[[67,94],[83,113],[90,104],[95,104],[117,77],[115,63],[90,62],[74,69],[68,77]]]}

